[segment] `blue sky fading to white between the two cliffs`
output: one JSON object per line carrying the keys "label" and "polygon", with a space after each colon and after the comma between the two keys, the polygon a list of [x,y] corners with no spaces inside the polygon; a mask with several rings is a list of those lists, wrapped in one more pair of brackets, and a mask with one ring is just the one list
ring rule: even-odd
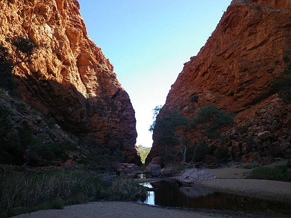
{"label": "blue sky fading to white between the two cliffs", "polygon": [[129,93],[137,144],[152,145],[152,109],[215,30],[231,0],[79,0],[89,37]]}

